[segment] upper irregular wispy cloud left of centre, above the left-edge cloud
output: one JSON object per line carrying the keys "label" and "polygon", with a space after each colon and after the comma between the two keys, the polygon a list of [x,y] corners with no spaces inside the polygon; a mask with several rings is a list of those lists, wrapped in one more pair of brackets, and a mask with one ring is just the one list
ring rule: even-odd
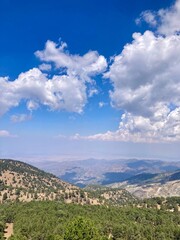
{"label": "upper irregular wispy cloud left of centre, above the left-edge cloud", "polygon": [[69,76],[78,76],[83,81],[91,81],[91,77],[106,70],[106,59],[97,51],[89,51],[80,56],[71,55],[66,48],[66,43],[61,43],[59,46],[52,41],[47,41],[45,49],[37,51],[35,55],[41,61],[54,63],[57,69],[65,68]]}

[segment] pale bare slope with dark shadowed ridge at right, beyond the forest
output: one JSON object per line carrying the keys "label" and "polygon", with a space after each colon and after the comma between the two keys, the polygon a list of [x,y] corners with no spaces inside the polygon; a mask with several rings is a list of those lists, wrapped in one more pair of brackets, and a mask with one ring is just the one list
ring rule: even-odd
{"label": "pale bare slope with dark shadowed ridge at right, beyond the forest", "polygon": [[126,181],[110,184],[125,188],[138,198],[180,196],[180,170],[159,174],[142,173]]}

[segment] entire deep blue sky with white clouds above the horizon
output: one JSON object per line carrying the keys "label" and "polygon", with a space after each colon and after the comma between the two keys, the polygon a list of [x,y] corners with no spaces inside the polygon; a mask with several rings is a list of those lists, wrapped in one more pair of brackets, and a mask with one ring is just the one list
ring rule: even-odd
{"label": "entire deep blue sky with white clouds above the horizon", "polygon": [[180,160],[180,0],[1,0],[0,158]]}

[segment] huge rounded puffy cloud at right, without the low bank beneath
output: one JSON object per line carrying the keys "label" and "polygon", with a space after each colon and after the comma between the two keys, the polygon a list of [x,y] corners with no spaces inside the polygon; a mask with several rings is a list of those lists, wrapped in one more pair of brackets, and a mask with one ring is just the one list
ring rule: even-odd
{"label": "huge rounded puffy cloud at right, without the low bank beneath", "polygon": [[113,106],[152,118],[159,103],[180,105],[180,36],[156,37],[146,31],[133,38],[105,77],[114,87]]}

